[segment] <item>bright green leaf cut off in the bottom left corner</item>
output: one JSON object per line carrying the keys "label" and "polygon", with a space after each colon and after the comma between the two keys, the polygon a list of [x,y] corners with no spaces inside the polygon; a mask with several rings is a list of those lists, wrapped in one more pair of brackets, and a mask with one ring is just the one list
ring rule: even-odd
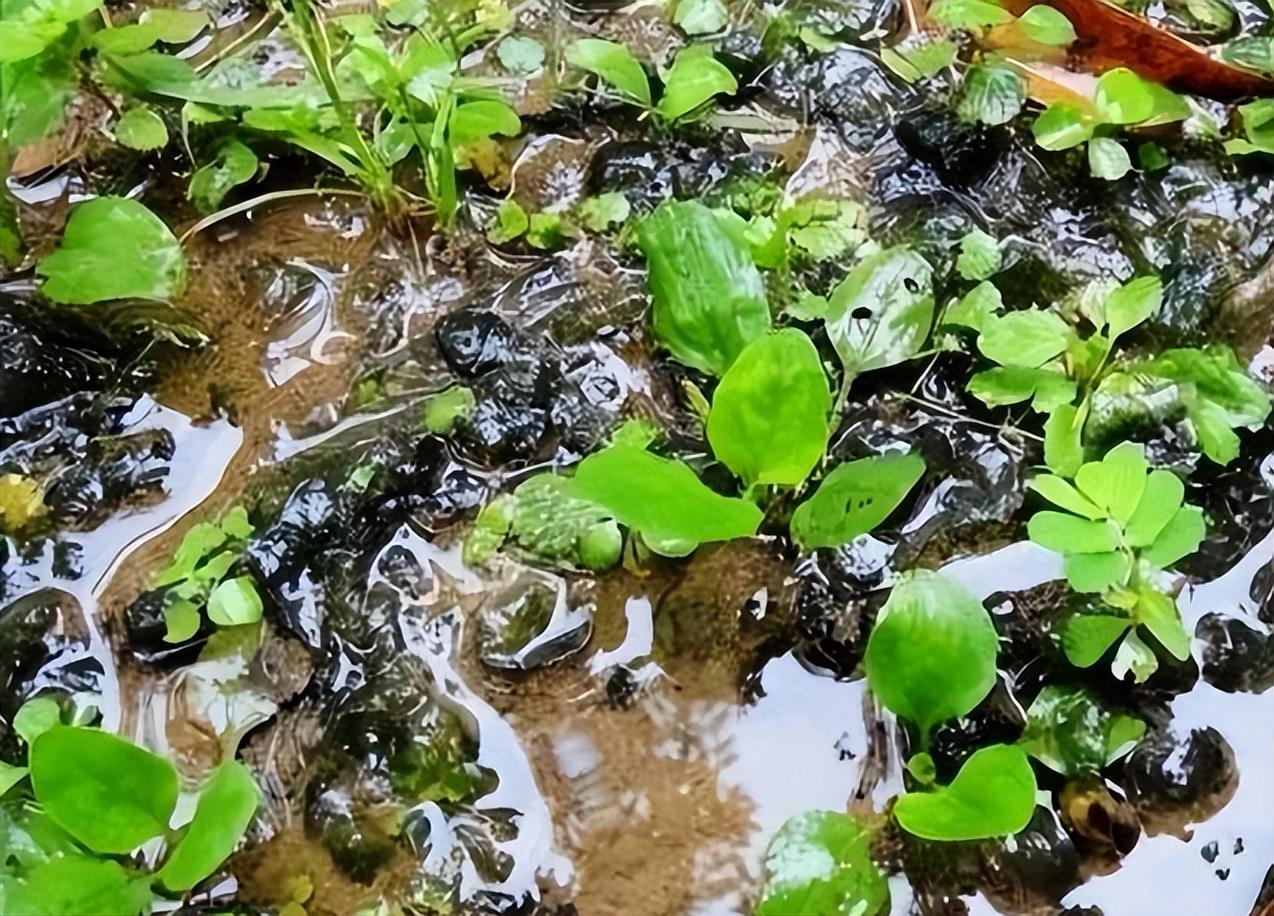
{"label": "bright green leaf cut off in the bottom left corner", "polygon": [[150,888],[118,862],[70,855],[0,878],[5,916],[139,916],[150,912]]}

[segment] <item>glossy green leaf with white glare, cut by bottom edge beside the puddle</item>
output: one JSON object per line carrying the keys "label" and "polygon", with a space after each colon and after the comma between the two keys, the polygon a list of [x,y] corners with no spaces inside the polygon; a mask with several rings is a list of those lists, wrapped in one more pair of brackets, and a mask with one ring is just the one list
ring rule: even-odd
{"label": "glossy green leaf with white glare, cut by bottom edge beside the puddle", "polygon": [[873,831],[841,812],[790,818],[766,850],[766,883],[753,916],[882,916],[889,884],[871,861]]}

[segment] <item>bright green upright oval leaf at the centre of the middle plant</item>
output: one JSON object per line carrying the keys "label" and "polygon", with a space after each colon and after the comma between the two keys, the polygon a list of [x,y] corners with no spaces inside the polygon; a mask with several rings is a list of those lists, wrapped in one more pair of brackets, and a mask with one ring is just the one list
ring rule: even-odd
{"label": "bright green upright oval leaf at the centre of the middle plant", "polygon": [[823,457],[831,411],[818,349],[804,331],[785,327],[748,344],[721,377],[708,442],[748,487],[795,487]]}

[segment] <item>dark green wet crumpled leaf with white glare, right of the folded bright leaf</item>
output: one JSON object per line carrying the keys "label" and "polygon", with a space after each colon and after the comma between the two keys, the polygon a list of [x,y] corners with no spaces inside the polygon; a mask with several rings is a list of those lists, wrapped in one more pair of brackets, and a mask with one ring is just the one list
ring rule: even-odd
{"label": "dark green wet crumpled leaf with white glare, right of the folded bright leaf", "polygon": [[1031,708],[1018,740],[1028,754],[1063,776],[1099,772],[1145,734],[1145,722],[1101,706],[1082,687],[1050,684]]}

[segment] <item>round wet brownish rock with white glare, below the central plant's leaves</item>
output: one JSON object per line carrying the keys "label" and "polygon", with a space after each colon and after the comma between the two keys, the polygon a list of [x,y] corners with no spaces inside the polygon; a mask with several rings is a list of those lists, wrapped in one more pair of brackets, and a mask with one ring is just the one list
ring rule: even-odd
{"label": "round wet brownish rock with white glare, below the central plant's leaves", "polygon": [[592,632],[592,605],[573,604],[566,580],[525,569],[494,592],[479,615],[479,657],[525,671],[578,651]]}

